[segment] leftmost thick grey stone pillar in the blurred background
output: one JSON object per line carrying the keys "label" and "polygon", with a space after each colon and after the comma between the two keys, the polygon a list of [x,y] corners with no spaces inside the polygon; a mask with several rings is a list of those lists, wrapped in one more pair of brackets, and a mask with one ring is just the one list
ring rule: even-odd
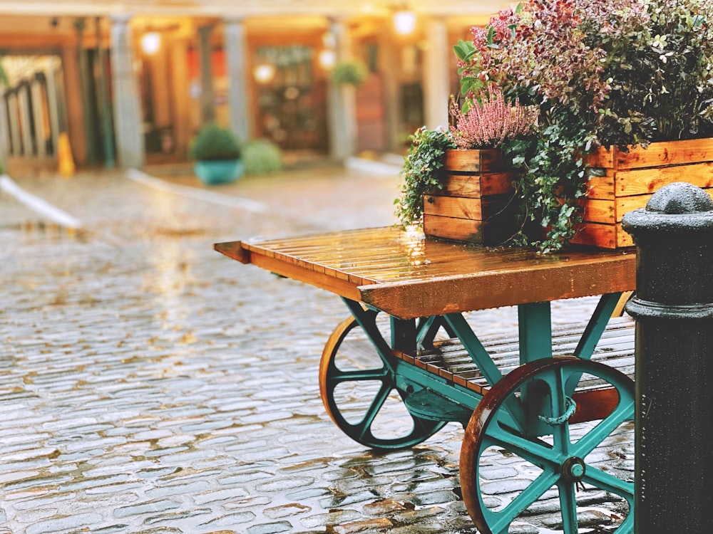
{"label": "leftmost thick grey stone pillar in the blurred background", "polygon": [[145,145],[141,106],[133,70],[133,48],[128,16],[112,18],[111,65],[116,127],[116,155],[121,167],[143,167]]}

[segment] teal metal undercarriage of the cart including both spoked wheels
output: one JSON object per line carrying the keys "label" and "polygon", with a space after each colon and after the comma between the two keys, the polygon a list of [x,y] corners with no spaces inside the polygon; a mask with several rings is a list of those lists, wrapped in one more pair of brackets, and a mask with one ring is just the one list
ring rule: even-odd
{"label": "teal metal undercarriage of the cart including both spoked wheels", "polygon": [[[602,295],[573,351],[576,358],[560,360],[552,359],[551,303],[518,305],[520,365],[507,375],[503,375],[461,313],[418,320],[401,320],[389,316],[391,339],[386,340],[376,323],[379,310],[365,308],[361,303],[344,298],[354,320],[366,333],[383,362],[383,367],[371,370],[368,376],[362,377],[358,372],[344,376],[354,379],[378,378],[382,380],[382,385],[379,395],[371,403],[361,422],[349,426],[341,416],[337,416],[335,421],[356,441],[359,441],[361,435],[371,436],[371,422],[383,404],[385,395],[396,389],[411,417],[414,417],[416,429],[403,438],[374,441],[378,446],[397,449],[418,443],[441,429],[446,422],[463,424],[466,427],[466,436],[471,431],[471,426],[478,429],[476,439],[472,436],[469,440],[464,439],[461,450],[461,477],[463,465],[466,465],[466,476],[476,482],[474,488],[472,484],[468,488],[463,486],[463,498],[466,500],[467,497],[468,513],[471,513],[471,518],[478,528],[484,529],[483,532],[506,534],[508,525],[516,516],[556,485],[560,493],[565,533],[574,534],[578,532],[575,499],[577,484],[590,483],[627,501],[629,513],[616,532],[630,534],[633,523],[633,483],[620,480],[596,466],[588,466],[585,463],[585,457],[606,439],[617,425],[633,418],[634,388],[630,379],[611,367],[590,361],[620,296],[621,293]],[[398,350],[406,354],[416,354],[419,348],[429,347],[434,342],[441,328],[445,329],[449,336],[460,340],[488,382],[488,392],[481,394],[468,389],[401,360],[392,352]],[[583,439],[571,443],[568,419],[576,407],[572,397],[575,396],[580,377],[585,373],[603,377],[605,381],[613,384],[620,394],[620,403],[600,423],[588,430]],[[339,377],[334,375],[333,379]],[[332,395],[333,390],[334,387],[329,389],[327,397]],[[486,402],[479,405],[485,398],[484,395],[487,395]],[[328,399],[328,402],[334,401]],[[330,407],[334,419],[334,410],[338,408],[331,404]],[[488,421],[484,426],[483,414],[488,414]],[[476,419],[476,424],[468,424],[471,417]],[[542,436],[553,436],[553,444],[543,441]],[[366,439],[359,442],[368,444]],[[502,511],[491,511],[486,507],[478,485],[479,458],[482,451],[491,445],[515,451],[515,454],[543,470],[543,473]],[[466,455],[465,461],[463,454]]]}

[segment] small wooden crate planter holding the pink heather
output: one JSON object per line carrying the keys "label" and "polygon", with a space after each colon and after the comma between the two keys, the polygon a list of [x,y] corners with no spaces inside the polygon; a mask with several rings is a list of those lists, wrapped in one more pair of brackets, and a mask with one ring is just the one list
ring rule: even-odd
{"label": "small wooden crate planter holding the pink heather", "polygon": [[426,236],[497,245],[515,234],[513,173],[498,150],[448,150],[443,189],[424,196]]}

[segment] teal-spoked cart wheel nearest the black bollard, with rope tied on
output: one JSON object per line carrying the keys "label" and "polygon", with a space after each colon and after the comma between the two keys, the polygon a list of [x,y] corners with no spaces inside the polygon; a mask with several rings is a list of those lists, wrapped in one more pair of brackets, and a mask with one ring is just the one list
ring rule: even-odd
{"label": "teal-spoked cart wheel nearest the black bollard, with rope tied on", "polygon": [[572,357],[535,360],[497,382],[461,449],[463,501],[478,532],[539,523],[548,533],[632,533],[634,400],[622,372]]}

